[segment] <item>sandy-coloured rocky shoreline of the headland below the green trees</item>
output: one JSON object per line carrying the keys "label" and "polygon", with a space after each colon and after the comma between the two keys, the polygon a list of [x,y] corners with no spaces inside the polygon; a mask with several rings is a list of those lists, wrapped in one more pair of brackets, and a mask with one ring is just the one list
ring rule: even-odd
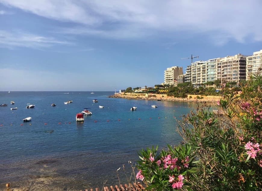
{"label": "sandy-coloured rocky shoreline of the headland below the green trees", "polygon": [[[197,99],[197,96],[202,99]],[[114,94],[113,98],[123,99],[141,99],[152,101],[176,101],[176,102],[217,102],[221,96],[202,96],[202,95],[188,95],[187,98],[175,98],[173,96],[167,96],[166,94],[142,94],[142,93],[119,93]]]}

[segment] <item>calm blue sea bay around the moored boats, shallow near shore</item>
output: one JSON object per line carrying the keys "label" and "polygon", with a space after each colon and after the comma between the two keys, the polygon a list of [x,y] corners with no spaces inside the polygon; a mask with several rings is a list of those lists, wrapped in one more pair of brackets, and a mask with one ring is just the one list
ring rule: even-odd
{"label": "calm blue sea bay around the moored boats, shallow near shore", "polygon": [[[39,188],[37,184],[45,186],[38,190],[80,190],[127,183],[138,153],[147,147],[158,146],[160,151],[167,144],[179,144],[177,120],[197,107],[188,102],[108,97],[113,94],[0,92],[0,104],[8,104],[0,107],[0,190],[5,183],[31,186],[30,190]],[[73,102],[64,104],[68,100]],[[27,109],[28,104],[35,108]],[[133,106],[136,111],[130,111]],[[76,122],[83,108],[89,108],[92,116]],[[32,120],[23,122],[27,117]]]}

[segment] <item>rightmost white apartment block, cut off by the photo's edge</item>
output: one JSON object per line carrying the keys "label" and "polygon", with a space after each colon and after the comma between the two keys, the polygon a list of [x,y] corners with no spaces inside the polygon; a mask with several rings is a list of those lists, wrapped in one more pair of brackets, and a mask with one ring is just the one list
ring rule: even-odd
{"label": "rightmost white apartment block, cut off by the photo's edge", "polygon": [[262,50],[247,57],[246,80],[249,80],[250,76],[256,73],[259,67],[262,67]]}

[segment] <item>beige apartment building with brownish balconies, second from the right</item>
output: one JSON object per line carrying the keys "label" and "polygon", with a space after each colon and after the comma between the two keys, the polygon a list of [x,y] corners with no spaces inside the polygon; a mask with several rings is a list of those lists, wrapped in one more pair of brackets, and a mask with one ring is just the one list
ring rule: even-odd
{"label": "beige apartment building with brownish balconies, second from the right", "polygon": [[246,56],[236,54],[217,59],[217,76],[221,82],[235,82],[246,79]]}

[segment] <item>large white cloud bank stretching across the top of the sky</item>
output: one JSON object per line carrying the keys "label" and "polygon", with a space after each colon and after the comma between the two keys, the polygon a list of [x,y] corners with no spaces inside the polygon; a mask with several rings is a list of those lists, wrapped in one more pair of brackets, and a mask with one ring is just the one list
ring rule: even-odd
{"label": "large white cloud bank stretching across the top of the sky", "polygon": [[[201,33],[224,44],[262,40],[260,0],[0,0],[5,5],[78,26],[67,34],[141,38],[173,32]],[[220,42],[221,40],[221,42]]]}

